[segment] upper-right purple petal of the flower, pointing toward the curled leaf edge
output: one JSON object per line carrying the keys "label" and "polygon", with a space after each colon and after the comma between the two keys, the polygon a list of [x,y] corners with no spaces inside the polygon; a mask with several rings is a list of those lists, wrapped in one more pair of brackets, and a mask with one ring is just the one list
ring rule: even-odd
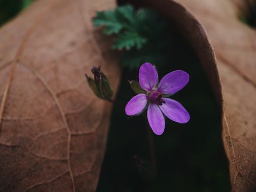
{"label": "upper-right purple petal of the flower, pointing toward the curled leaf edge", "polygon": [[180,91],[189,81],[189,75],[182,70],[166,74],[159,82],[158,91],[164,94],[174,94]]}

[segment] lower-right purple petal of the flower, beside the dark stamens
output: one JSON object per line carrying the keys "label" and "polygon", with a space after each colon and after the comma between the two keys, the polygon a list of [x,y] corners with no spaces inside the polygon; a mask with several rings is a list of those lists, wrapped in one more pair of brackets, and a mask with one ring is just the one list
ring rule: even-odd
{"label": "lower-right purple petal of the flower, beside the dark stamens", "polygon": [[190,116],[187,110],[180,104],[178,101],[162,98],[165,103],[160,105],[161,111],[166,115],[170,120],[173,120],[178,123],[186,123],[189,121]]}

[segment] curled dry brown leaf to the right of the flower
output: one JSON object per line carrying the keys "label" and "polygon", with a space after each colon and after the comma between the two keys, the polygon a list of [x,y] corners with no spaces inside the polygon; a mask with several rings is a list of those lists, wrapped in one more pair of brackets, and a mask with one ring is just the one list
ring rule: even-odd
{"label": "curled dry brown leaf to the right of the flower", "polygon": [[232,191],[256,191],[256,31],[239,20],[246,1],[141,2],[176,25],[200,58],[222,109]]}

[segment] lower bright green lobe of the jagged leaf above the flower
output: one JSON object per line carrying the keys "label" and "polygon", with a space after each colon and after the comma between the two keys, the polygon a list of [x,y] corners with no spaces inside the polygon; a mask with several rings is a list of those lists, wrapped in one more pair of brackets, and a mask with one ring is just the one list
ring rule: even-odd
{"label": "lower bright green lobe of the jagged leaf above the flower", "polygon": [[141,49],[146,42],[147,39],[140,36],[136,31],[125,31],[124,33],[117,35],[112,48],[130,50],[131,48],[136,47],[137,49]]}

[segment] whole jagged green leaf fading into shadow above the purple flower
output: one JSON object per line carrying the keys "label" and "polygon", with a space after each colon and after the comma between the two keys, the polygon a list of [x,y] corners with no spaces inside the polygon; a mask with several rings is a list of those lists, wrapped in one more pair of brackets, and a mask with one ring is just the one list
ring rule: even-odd
{"label": "whole jagged green leaf fading into shadow above the purple flower", "polygon": [[151,9],[134,10],[131,5],[114,11],[97,12],[95,26],[103,26],[104,34],[116,34],[112,49],[122,51],[120,63],[127,69],[137,69],[144,62],[168,61],[171,39],[165,19]]}

